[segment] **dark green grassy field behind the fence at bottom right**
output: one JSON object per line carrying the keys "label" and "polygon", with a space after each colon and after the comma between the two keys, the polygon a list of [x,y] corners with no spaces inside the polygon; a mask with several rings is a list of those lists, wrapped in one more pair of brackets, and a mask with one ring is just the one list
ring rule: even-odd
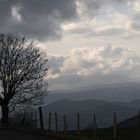
{"label": "dark green grassy field behind the fence at bottom right", "polygon": [[[70,135],[76,135],[75,132],[69,132]],[[97,129],[97,140],[113,140],[112,128]],[[92,130],[82,130],[81,137],[93,139]],[[71,138],[74,139],[74,138]],[[119,128],[117,130],[117,140],[140,140],[140,130],[137,128]]]}

